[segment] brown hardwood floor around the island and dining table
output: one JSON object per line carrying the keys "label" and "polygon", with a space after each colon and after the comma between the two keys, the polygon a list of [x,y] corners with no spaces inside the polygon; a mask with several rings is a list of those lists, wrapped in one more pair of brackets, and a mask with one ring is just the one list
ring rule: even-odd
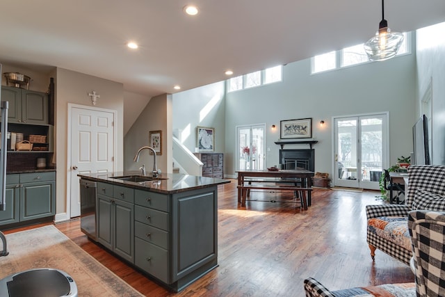
{"label": "brown hardwood floor around the island and dining table", "polygon": [[[251,195],[291,198],[290,193]],[[408,266],[379,250],[375,262],[371,260],[364,207],[382,203],[375,195],[377,191],[314,189],[312,206],[300,211],[293,203],[247,202],[238,207],[236,181],[219,186],[219,266],[177,294],[89,241],[79,220],[56,227],[145,296],[304,296],[303,280],[308,277],[332,290],[414,282]]]}

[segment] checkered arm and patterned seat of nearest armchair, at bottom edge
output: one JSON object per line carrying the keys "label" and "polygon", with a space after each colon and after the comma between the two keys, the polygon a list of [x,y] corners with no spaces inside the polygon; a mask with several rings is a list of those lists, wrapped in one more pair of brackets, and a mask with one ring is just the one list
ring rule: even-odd
{"label": "checkered arm and patterned seat of nearest armchair, at bottom edge", "polygon": [[314,278],[305,280],[306,297],[379,297],[379,296],[403,296],[415,297],[416,284],[409,282],[406,284],[380,284],[380,286],[355,287],[330,291],[323,284]]}

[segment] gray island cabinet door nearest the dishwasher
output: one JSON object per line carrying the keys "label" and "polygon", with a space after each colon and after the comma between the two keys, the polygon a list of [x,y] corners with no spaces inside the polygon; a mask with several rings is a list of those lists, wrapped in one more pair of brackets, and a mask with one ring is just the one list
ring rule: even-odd
{"label": "gray island cabinet door nearest the dishwasher", "polygon": [[113,250],[113,204],[111,198],[97,195],[97,241]]}

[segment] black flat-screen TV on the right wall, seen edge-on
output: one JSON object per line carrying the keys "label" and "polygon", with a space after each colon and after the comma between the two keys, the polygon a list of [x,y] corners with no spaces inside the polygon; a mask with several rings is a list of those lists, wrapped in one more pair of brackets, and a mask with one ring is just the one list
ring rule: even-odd
{"label": "black flat-screen TV on the right wall, seen edge-on", "polygon": [[430,148],[428,146],[428,119],[426,115],[421,118],[412,127],[412,139],[414,148],[414,160],[412,164],[430,165]]}

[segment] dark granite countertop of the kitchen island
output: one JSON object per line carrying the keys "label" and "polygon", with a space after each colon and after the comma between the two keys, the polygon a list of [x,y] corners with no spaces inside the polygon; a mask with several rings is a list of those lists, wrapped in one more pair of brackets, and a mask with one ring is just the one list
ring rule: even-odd
{"label": "dark granite countertop of the kitchen island", "polygon": [[[122,179],[113,178],[129,175],[140,175],[140,171],[90,173],[79,174],[78,176],[95,182],[107,182],[108,184],[117,184],[120,186],[128,186],[130,188],[139,188],[145,191],[154,191],[165,194],[191,191],[218,184],[228,184],[230,182],[228,179],[197,177],[194,175],[184,175],[181,173],[162,173],[156,177],[155,180],[147,182],[129,182]],[[151,177],[151,175],[147,174],[147,177]]]}

